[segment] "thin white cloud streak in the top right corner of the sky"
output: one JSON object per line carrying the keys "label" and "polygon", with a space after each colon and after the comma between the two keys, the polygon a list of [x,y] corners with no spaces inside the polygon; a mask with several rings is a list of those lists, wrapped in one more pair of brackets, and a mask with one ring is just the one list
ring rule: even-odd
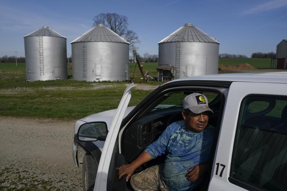
{"label": "thin white cloud streak in the top right corner of the sky", "polygon": [[287,5],[287,0],[275,0],[275,1],[268,1],[266,3],[260,4],[252,9],[244,11],[241,16],[244,15],[251,15],[255,13],[260,13],[268,10],[277,9]]}

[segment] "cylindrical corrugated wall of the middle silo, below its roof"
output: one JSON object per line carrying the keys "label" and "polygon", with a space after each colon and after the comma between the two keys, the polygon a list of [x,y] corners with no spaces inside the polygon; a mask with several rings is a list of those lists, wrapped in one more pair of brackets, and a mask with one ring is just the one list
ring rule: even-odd
{"label": "cylindrical corrugated wall of the middle silo, below its roof", "polygon": [[72,60],[75,80],[123,81],[129,77],[129,44],[126,43],[72,43]]}

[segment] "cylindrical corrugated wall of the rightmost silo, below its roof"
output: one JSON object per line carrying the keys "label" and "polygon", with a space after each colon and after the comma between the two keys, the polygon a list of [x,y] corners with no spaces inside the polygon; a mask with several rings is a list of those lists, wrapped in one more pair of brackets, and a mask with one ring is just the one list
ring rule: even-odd
{"label": "cylindrical corrugated wall of the rightmost silo, below its roof", "polygon": [[176,78],[218,73],[217,43],[165,42],[158,45],[158,65],[176,66]]}

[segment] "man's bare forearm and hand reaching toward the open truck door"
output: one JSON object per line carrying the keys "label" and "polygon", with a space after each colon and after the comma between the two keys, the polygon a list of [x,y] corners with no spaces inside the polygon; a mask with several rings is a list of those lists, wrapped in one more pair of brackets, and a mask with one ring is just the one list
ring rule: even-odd
{"label": "man's bare forearm and hand reaching toward the open truck door", "polygon": [[135,169],[141,166],[142,164],[150,161],[152,157],[147,152],[142,152],[138,158],[136,158],[134,161],[132,161],[130,164],[124,164],[120,166],[119,168],[119,179],[127,174],[126,181],[129,180],[129,178],[132,176],[132,174],[135,172]]}

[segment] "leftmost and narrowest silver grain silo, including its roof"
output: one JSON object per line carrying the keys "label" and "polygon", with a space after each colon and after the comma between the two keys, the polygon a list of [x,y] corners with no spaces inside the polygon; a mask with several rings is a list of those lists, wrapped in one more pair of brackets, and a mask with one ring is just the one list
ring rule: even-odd
{"label": "leftmost and narrowest silver grain silo, including its roof", "polygon": [[26,79],[67,79],[67,39],[42,27],[24,36]]}

